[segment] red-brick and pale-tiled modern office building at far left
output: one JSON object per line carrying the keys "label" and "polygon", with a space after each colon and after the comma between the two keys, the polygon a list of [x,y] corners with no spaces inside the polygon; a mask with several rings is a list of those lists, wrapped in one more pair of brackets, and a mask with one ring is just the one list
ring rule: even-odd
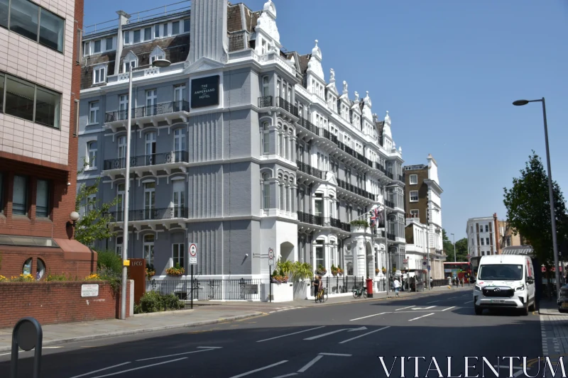
{"label": "red-brick and pale-tiled modern office building at far left", "polygon": [[[38,5],[40,4],[40,5]],[[85,277],[73,240],[82,0],[0,2],[0,275]]]}

